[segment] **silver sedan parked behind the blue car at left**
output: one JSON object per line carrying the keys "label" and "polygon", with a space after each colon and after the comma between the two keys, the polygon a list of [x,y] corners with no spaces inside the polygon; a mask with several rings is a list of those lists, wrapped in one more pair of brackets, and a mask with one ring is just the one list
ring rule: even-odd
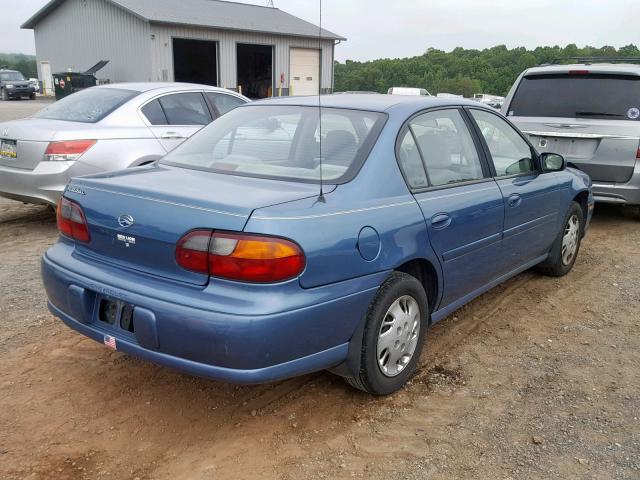
{"label": "silver sedan parked behind the blue car at left", "polygon": [[206,85],[118,83],[74,93],[0,123],[0,196],[55,205],[72,177],[166,155],[249,99]]}

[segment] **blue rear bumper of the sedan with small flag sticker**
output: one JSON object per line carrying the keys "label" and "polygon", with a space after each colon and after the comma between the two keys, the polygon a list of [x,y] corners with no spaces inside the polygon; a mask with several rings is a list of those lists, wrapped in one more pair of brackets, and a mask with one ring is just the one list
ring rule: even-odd
{"label": "blue rear bumper of the sedan with small flag sticker", "polygon": [[[49,308],[69,327],[101,343],[114,338],[117,350],[161,365],[248,384],[342,363],[387,275],[309,290],[297,281],[215,282],[203,289],[152,277],[144,282],[142,274],[75,257],[73,246],[58,243],[42,259]],[[135,305],[135,334],[98,319],[104,298]]]}

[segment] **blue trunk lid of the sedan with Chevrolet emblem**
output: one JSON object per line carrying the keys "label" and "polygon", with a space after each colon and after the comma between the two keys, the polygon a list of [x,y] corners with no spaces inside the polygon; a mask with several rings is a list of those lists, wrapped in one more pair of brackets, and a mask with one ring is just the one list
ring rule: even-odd
{"label": "blue trunk lid of the sedan with Chevrolet emblem", "polygon": [[242,231],[253,210],[317,194],[313,184],[151,166],[73,180],[65,196],[80,204],[89,243],[77,251],[95,260],[204,285],[184,270],[176,244],[194,229]]}

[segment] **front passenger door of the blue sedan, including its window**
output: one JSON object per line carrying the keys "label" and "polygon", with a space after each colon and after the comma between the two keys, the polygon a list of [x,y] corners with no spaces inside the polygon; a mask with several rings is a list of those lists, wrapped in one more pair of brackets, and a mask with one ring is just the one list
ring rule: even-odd
{"label": "front passenger door of the blue sedan, including its window", "polygon": [[563,194],[557,174],[543,174],[535,152],[501,116],[469,109],[491,159],[492,174],[505,203],[502,273],[546,253],[558,233]]}

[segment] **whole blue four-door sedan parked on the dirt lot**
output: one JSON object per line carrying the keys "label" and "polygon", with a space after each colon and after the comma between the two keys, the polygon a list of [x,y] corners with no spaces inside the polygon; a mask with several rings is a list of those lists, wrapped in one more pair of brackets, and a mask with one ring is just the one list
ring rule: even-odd
{"label": "whole blue four-door sedan parked on the dirt lot", "polygon": [[428,327],[532,267],[573,267],[591,181],[476,102],[242,106],[154,165],[76,178],[49,308],[117,349],[268,382],[331,369],[389,394]]}

